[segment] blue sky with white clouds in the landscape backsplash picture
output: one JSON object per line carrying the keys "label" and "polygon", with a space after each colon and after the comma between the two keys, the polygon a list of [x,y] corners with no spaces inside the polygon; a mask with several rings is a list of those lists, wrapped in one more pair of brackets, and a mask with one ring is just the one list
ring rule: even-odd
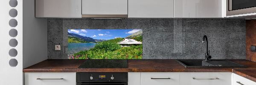
{"label": "blue sky with white clouds in the landscape backsplash picture", "polygon": [[117,37],[125,38],[140,30],[142,29],[68,29],[68,32],[98,40],[110,40]]}

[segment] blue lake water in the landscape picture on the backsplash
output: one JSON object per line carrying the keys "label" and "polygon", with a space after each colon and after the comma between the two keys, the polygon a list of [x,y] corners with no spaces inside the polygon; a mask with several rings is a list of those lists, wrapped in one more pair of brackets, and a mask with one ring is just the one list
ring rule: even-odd
{"label": "blue lake water in the landscape picture on the backsplash", "polygon": [[79,51],[90,50],[90,48],[94,48],[95,45],[96,43],[68,43],[67,53],[68,55],[72,55]]}

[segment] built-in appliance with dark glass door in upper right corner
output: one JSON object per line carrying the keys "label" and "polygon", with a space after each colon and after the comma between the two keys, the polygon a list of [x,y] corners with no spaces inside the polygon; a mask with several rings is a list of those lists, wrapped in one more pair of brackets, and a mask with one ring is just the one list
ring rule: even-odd
{"label": "built-in appliance with dark glass door in upper right corner", "polygon": [[227,16],[256,13],[256,0],[227,0]]}

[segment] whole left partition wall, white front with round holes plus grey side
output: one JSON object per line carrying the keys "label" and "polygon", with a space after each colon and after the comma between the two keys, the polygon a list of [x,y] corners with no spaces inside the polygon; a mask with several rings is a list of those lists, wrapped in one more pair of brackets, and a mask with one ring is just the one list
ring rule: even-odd
{"label": "whole left partition wall, white front with round holes plus grey side", "polygon": [[[34,0],[17,0],[16,7],[9,6],[9,1],[0,0],[0,85],[23,85],[23,68],[47,59],[47,19],[35,18]],[[12,8],[17,10],[16,17],[9,16]],[[16,27],[9,26],[11,19],[17,20]],[[12,28],[18,32],[16,37],[9,36]],[[17,46],[11,47],[10,39],[16,39]],[[9,55],[12,48],[17,50],[15,57]],[[10,66],[10,59],[16,59],[17,66]]]}

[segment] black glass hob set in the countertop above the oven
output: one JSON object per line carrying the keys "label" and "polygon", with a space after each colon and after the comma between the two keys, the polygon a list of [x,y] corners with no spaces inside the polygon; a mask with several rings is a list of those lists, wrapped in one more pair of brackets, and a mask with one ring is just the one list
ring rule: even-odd
{"label": "black glass hob set in the countertop above the oven", "polygon": [[78,68],[128,68],[127,59],[86,59]]}

